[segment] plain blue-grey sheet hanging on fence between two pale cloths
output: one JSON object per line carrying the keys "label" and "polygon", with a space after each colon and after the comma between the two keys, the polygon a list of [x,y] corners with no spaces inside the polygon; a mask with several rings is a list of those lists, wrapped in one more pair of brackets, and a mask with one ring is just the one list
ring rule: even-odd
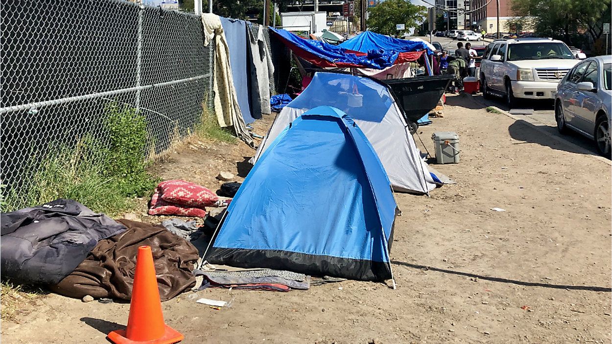
{"label": "plain blue-grey sheet hanging on fence between two pale cloths", "polygon": [[242,118],[246,124],[255,121],[251,115],[251,105],[249,103],[249,80],[250,72],[248,66],[250,61],[247,58],[247,25],[244,20],[221,18],[225,38],[230,48],[230,67],[234,78],[234,88],[238,97],[238,106],[242,112]]}

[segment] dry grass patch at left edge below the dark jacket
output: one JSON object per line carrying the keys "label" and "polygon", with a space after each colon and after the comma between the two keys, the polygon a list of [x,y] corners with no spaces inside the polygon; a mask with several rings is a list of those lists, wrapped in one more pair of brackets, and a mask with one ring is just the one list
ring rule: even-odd
{"label": "dry grass patch at left edge below the dark jacket", "polygon": [[0,318],[16,321],[18,315],[27,315],[47,293],[32,286],[15,285],[2,281],[0,284]]}

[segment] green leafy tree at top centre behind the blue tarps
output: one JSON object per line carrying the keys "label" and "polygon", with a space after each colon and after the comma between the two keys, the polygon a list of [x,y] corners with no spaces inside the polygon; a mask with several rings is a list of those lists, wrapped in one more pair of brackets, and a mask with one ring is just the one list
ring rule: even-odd
{"label": "green leafy tree at top centre behind the blue tarps", "polygon": [[397,33],[395,24],[405,24],[406,31],[417,28],[427,16],[427,7],[416,6],[409,0],[385,0],[370,9],[367,24],[371,31],[384,35]]}

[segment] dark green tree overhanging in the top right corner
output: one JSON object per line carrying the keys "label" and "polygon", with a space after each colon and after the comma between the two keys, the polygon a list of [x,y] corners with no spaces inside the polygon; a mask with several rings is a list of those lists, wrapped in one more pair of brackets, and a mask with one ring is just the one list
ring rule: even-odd
{"label": "dark green tree overhanging in the top right corner", "polygon": [[571,43],[579,31],[589,32],[593,40],[601,36],[602,19],[610,18],[610,0],[514,0],[512,10],[531,21],[539,34]]}

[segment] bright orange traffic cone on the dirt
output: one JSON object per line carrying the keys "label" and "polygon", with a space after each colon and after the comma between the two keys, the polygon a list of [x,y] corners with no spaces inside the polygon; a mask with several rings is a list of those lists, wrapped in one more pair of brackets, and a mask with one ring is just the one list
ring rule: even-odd
{"label": "bright orange traffic cone on the dirt", "polygon": [[184,338],[184,335],[163,323],[151,247],[138,247],[127,330],[110,332],[108,339],[116,344],[172,344]]}

